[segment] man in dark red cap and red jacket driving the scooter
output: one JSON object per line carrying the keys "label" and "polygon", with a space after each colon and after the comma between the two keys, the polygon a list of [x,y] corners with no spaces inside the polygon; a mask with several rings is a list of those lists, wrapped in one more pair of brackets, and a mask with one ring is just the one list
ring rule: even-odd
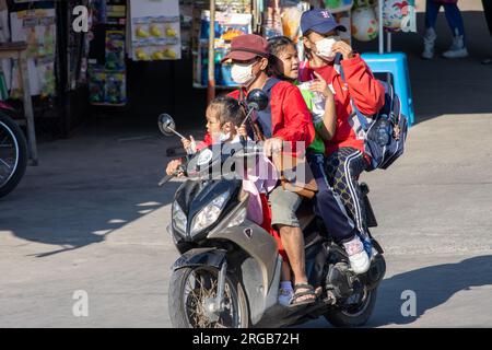
{"label": "man in dark red cap and red jacket driving the scooter", "polygon": [[[262,89],[269,77],[268,42],[261,36],[248,34],[232,40],[231,52],[224,60],[232,60],[232,78],[238,83],[239,90],[230,96],[241,98],[241,95],[254,89]],[[313,142],[315,131],[311,113],[296,86],[288,82],[279,82],[271,90],[271,118],[258,118],[262,133],[266,137],[263,150],[267,156],[278,153],[283,142],[292,142],[294,152],[304,152]],[[295,150],[295,143],[303,142],[303,150]],[[206,143],[211,143],[210,135]],[[175,163],[177,165],[177,163]],[[167,172],[171,174],[173,167]],[[307,283],[304,258],[304,237],[295,211],[302,202],[302,197],[294,191],[278,186],[270,194],[271,224],[280,232],[280,237],[288,254],[294,273],[293,305],[312,303],[316,294]]]}

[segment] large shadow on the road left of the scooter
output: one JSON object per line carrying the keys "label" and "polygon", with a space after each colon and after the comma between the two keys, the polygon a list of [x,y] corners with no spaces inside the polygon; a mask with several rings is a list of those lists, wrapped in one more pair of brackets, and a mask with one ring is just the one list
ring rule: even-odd
{"label": "large shadow on the road left of the scooter", "polygon": [[[168,161],[164,154],[165,144],[155,135],[140,131],[44,143],[40,165],[30,167],[20,186],[0,200],[0,231],[58,246],[34,254],[39,258],[102,243],[171,202],[179,183],[157,187]],[[155,230],[165,232],[166,222],[163,218]],[[3,234],[7,245],[22,245]]]}

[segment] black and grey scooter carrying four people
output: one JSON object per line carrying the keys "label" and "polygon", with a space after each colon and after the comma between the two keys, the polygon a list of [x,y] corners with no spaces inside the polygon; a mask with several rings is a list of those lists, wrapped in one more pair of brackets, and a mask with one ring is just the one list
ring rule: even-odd
{"label": "black and grey scooter carrying four people", "polygon": [[[266,107],[262,91],[248,94],[250,110]],[[159,126],[166,135],[178,135],[168,115]],[[324,316],[338,327],[364,325],[374,310],[377,287],[386,271],[383,249],[371,236],[371,267],[364,275],[351,271],[345,250],[338,245],[323,220],[313,213],[313,203],[304,200],[297,211],[305,241],[308,282],[321,288],[315,303],[283,306],[278,303],[282,257],[272,235],[247,218],[249,195],[242,180],[211,176],[210,170],[232,160],[262,154],[259,145],[242,144],[235,152],[204,148],[186,161],[178,173],[186,180],[177,189],[167,231],[180,254],[172,267],[168,311],[174,327],[285,327]],[[212,173],[213,174],[213,173]],[[368,225],[377,225],[362,184]]]}

